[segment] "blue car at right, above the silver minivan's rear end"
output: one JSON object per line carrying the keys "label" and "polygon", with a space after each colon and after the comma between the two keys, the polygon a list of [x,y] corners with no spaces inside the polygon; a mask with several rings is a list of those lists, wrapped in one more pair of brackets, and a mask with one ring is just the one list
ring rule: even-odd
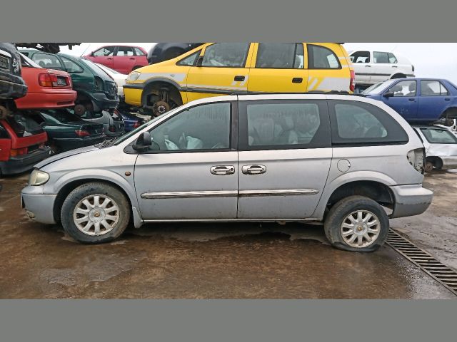
{"label": "blue car at right, above the silver minivan's rear end", "polygon": [[376,83],[362,95],[380,100],[409,123],[453,125],[457,118],[457,87],[438,78],[398,78]]}

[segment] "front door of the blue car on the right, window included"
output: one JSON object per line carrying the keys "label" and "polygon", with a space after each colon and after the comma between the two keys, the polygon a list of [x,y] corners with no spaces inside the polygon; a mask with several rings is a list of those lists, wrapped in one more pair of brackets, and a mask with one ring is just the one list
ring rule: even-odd
{"label": "front door of the blue car on the right, window included", "polygon": [[416,81],[400,81],[384,92],[393,96],[381,99],[406,120],[416,120],[418,110],[418,93]]}

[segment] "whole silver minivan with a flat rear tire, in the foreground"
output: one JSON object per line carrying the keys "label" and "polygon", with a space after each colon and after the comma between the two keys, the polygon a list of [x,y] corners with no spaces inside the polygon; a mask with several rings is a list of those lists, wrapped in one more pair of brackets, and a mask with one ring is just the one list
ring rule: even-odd
{"label": "whole silver minivan with a flat rear tire, in the foreground", "polygon": [[84,243],[168,221],[323,222],[373,251],[388,219],[424,212],[424,148],[398,113],[353,95],[230,95],[171,110],[118,140],[36,165],[32,219]]}

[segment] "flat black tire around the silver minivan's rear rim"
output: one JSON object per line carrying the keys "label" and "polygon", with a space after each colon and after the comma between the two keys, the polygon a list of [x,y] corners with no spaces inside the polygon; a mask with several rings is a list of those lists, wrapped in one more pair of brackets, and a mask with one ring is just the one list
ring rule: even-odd
{"label": "flat black tire around the silver minivan's rear rim", "polygon": [[[357,210],[368,210],[378,217],[379,221],[379,234],[378,237],[366,247],[352,247],[347,244],[341,236],[341,225],[344,219],[352,212]],[[350,252],[373,252],[386,242],[389,223],[386,211],[377,202],[368,197],[363,196],[350,196],[331,207],[324,222],[324,230],[328,241],[331,242],[333,247],[343,249]]]}

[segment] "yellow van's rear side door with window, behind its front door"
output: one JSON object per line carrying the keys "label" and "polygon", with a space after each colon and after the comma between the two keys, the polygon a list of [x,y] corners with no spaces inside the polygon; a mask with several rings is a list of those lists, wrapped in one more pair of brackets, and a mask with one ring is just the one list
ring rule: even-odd
{"label": "yellow van's rear side door with window, behind its front door", "polygon": [[249,92],[305,93],[303,43],[254,43]]}

